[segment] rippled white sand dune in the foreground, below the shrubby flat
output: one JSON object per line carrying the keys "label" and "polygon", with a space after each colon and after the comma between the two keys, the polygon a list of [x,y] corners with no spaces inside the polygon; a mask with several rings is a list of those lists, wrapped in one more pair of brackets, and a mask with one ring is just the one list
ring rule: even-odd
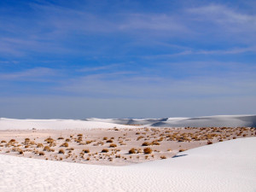
{"label": "rippled white sand dune in the foreground, below the shrubby flat", "polygon": [[0,191],[256,191],[256,137],[177,158],[94,166],[0,155]]}

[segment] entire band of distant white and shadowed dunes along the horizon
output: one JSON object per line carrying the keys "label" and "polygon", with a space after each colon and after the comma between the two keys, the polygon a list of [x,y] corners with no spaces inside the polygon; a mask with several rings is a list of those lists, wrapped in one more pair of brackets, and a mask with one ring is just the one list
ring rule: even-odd
{"label": "entire band of distant white and shadowed dunes along the horizon", "polygon": [[93,128],[131,128],[137,127],[202,127],[230,126],[256,127],[256,115],[218,115],[197,118],[165,119],[0,119],[0,130],[27,129],[93,129]]}

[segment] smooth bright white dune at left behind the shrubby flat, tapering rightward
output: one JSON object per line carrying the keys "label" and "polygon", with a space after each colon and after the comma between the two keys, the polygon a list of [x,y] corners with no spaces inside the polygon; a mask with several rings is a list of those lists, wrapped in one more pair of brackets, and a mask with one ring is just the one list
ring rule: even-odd
{"label": "smooth bright white dune at left behind the shrubby flat, tapering rightward", "polygon": [[81,130],[133,126],[74,119],[0,119],[0,130]]}

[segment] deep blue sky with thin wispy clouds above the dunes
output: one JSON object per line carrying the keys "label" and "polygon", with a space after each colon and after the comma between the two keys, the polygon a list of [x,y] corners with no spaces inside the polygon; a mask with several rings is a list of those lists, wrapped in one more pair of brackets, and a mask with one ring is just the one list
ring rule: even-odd
{"label": "deep blue sky with thin wispy clouds above the dunes", "polygon": [[254,0],[0,1],[0,117],[256,114]]}

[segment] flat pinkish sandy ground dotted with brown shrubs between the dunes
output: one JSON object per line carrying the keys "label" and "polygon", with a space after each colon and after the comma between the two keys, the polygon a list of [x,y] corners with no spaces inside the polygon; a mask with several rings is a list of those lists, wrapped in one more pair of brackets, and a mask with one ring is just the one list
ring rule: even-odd
{"label": "flat pinkish sandy ground dotted with brown shrubs between the dunes", "polygon": [[255,129],[245,127],[12,130],[0,131],[0,154],[125,166],[171,158],[183,150],[207,144],[255,136]]}

